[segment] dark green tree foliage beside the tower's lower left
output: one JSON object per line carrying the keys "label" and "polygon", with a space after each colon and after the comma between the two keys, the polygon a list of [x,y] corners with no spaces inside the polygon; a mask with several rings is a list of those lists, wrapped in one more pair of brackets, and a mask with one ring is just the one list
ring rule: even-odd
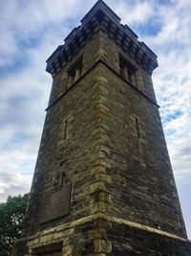
{"label": "dark green tree foliage beside the tower's lower left", "polygon": [[9,197],[0,203],[0,256],[11,254],[14,242],[19,238],[29,194]]}

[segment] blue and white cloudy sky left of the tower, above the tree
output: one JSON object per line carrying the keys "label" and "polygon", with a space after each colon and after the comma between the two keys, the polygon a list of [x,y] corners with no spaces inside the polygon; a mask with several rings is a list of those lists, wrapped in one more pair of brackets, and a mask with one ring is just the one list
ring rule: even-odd
{"label": "blue and white cloudy sky left of the tower, above the tree", "polygon": [[30,189],[52,83],[46,59],[79,24],[67,21],[84,12],[78,4],[79,9],[76,1],[0,3],[0,201]]}

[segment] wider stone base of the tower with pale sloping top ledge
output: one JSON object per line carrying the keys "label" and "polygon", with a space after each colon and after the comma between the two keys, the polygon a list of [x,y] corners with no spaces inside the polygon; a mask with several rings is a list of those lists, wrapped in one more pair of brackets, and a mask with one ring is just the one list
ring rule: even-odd
{"label": "wider stone base of the tower with pale sloping top ledge", "polygon": [[11,256],[190,256],[191,242],[104,214],[68,222],[20,239]]}

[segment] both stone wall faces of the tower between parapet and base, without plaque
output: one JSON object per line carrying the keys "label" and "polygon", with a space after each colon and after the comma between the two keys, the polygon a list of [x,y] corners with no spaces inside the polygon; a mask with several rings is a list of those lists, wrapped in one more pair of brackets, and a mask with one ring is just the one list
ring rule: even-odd
{"label": "both stone wall faces of the tower between parapet and base, without plaque", "polygon": [[[97,33],[71,63],[82,53],[82,79],[47,111],[32,185],[30,233],[99,211],[185,236],[158,107],[120,78],[121,53],[111,38]],[[67,80],[59,79],[53,81],[51,105],[67,90]],[[70,214],[40,223],[57,172],[73,186]]]}

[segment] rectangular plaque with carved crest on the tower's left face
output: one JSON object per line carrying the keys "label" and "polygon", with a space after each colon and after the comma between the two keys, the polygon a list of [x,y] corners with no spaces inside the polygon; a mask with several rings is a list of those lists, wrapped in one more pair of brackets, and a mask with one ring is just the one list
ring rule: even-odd
{"label": "rectangular plaque with carved crest on the tower's left face", "polygon": [[55,179],[53,189],[45,193],[42,198],[40,222],[53,221],[68,215],[70,213],[71,193],[71,183],[65,183],[61,186],[60,179]]}

